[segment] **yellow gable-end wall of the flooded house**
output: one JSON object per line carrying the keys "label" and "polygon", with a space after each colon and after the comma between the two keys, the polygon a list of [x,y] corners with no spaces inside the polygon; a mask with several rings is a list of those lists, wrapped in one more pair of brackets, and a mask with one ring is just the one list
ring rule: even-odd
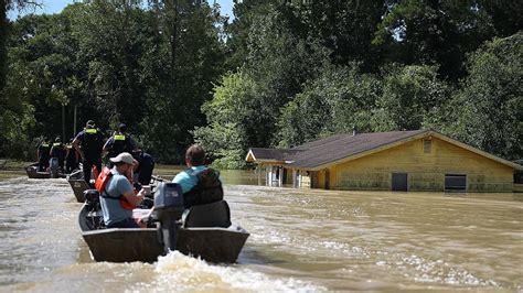
{"label": "yellow gable-end wall of the flooded house", "polygon": [[392,173],[407,173],[408,191],[444,191],[445,174],[467,175],[468,192],[511,192],[513,169],[455,144],[423,139],[330,167],[337,189],[391,189]]}

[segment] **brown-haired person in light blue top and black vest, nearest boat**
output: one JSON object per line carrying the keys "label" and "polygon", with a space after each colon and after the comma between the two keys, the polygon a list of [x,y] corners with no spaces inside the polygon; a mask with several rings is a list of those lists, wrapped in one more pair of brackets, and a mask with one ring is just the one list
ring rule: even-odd
{"label": "brown-haired person in light blue top and black vest, nearest boat", "polygon": [[185,152],[188,169],[174,176],[173,183],[180,185],[185,208],[223,200],[220,172],[205,166],[205,151],[198,144]]}

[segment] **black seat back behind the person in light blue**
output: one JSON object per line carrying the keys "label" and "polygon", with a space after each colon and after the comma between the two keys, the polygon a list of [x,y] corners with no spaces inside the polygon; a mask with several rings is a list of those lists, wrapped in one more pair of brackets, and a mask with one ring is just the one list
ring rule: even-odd
{"label": "black seat back behind the person in light blue", "polygon": [[189,208],[183,215],[183,227],[222,227],[231,226],[231,209],[225,200],[198,205]]}

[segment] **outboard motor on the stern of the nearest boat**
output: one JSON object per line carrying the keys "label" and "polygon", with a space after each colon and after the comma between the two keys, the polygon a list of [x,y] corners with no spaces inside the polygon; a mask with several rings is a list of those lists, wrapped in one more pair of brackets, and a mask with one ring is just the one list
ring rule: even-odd
{"label": "outboard motor on the stern of the nearest boat", "polygon": [[184,209],[180,185],[161,182],[154,194],[153,217],[160,223],[159,232],[166,253],[177,248],[178,229]]}

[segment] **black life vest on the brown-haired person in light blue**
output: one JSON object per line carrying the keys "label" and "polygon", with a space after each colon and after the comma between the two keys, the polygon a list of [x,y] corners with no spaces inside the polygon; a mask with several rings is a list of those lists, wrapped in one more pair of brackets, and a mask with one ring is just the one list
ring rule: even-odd
{"label": "black life vest on the brown-haired person in light blue", "polygon": [[[191,174],[192,171],[189,171],[189,173]],[[223,187],[218,171],[207,169],[198,173],[196,177],[198,184],[183,194],[185,208],[223,200]]]}

